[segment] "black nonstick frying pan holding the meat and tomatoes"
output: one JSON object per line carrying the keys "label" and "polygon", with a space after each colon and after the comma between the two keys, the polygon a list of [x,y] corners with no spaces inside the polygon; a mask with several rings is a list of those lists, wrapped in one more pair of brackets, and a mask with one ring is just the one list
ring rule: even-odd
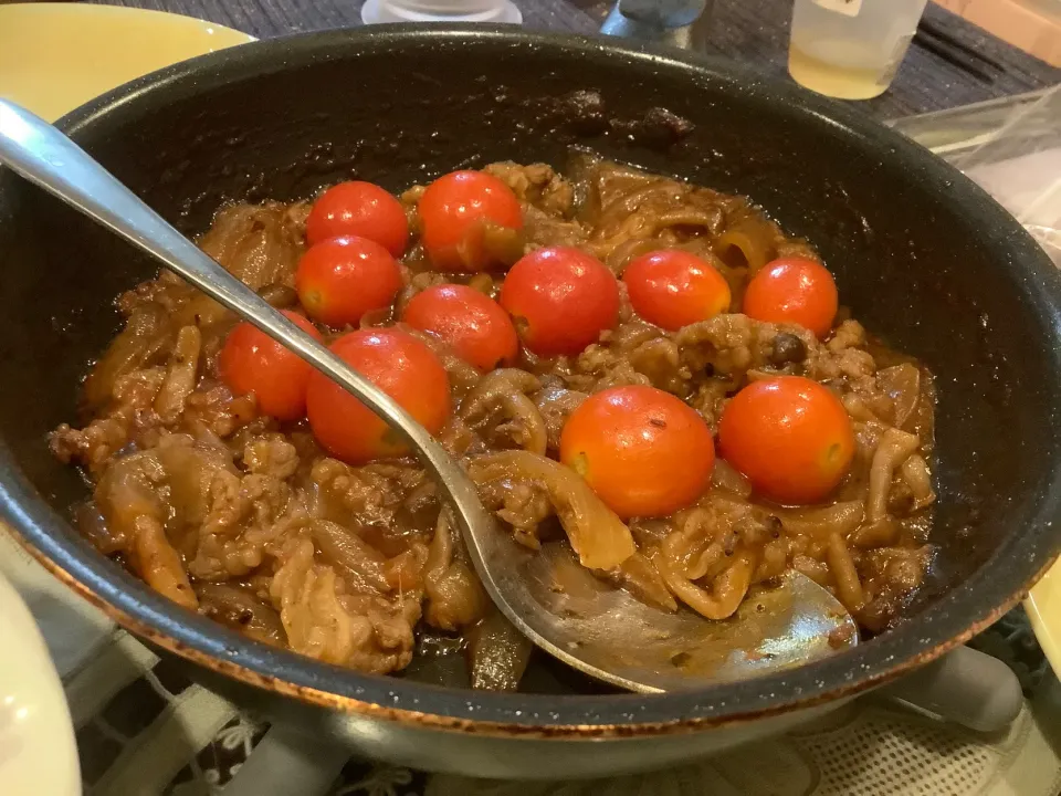
{"label": "black nonstick frying pan holding the meat and tomatoes", "polygon": [[189,232],[228,200],[305,198],[350,175],[399,190],[497,159],[559,166],[590,146],[753,197],[818,247],[869,328],[938,376],[941,554],[899,628],[797,671],[660,696],[561,693],[564,672],[537,678],[553,693],[511,695],[363,675],[192,616],[71,530],[85,488],[45,434],[74,417],[86,363],[118,325],[114,296],[155,266],[0,172],[0,511],[60,577],[229,694],[423,767],[647,768],[776,732],[941,654],[1058,552],[1061,279],[986,193],[850,106],[605,40],[378,28],[197,59],[61,126]]}

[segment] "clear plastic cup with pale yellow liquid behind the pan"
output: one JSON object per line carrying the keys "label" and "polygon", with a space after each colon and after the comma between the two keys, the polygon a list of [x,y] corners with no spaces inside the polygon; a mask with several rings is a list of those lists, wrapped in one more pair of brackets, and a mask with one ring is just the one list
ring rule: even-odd
{"label": "clear plastic cup with pale yellow liquid behind the pan", "polygon": [[788,72],[841,100],[869,100],[891,85],[927,0],[796,0]]}

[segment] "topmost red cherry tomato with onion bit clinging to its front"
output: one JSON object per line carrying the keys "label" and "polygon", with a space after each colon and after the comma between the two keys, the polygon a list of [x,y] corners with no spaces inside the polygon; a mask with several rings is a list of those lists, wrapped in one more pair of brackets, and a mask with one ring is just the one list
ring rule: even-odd
{"label": "topmost red cherry tomato with onion bit clinging to its front", "polygon": [[439,271],[473,273],[519,256],[523,209],[512,189],[484,171],[453,171],[418,205],[420,239]]}

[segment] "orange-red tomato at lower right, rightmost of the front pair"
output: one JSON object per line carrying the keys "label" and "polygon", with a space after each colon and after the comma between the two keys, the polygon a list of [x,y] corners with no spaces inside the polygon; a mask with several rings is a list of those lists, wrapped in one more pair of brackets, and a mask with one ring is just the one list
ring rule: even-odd
{"label": "orange-red tomato at lower right, rightmost of the front pair", "polygon": [[854,457],[843,404],[802,376],[755,381],[726,405],[718,423],[722,457],[759,494],[787,505],[824,500]]}

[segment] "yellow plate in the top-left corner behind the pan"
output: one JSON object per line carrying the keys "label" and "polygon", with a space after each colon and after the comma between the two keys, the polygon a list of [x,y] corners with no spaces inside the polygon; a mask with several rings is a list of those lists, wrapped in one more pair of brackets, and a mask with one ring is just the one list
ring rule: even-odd
{"label": "yellow plate in the top-left corner behind the pan", "polygon": [[148,72],[249,41],[230,28],[160,11],[0,4],[0,97],[53,122]]}

